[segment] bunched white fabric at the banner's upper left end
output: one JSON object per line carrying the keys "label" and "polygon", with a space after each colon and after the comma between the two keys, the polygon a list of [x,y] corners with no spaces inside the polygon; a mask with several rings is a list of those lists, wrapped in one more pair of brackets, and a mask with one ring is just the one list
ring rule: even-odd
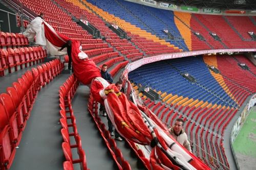
{"label": "bunched white fabric at the banner's upper left end", "polygon": [[46,38],[44,32],[44,25],[42,22],[44,20],[39,16],[33,19],[28,25],[27,30],[23,33],[25,37],[28,38],[30,42],[33,42],[35,37],[35,43],[38,45],[46,45]]}

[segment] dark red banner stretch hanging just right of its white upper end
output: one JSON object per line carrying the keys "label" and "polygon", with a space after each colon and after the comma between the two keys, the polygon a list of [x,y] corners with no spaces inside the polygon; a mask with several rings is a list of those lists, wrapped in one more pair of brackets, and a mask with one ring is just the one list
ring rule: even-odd
{"label": "dark red banner stretch hanging just right of its white upper end", "polygon": [[57,35],[62,38],[62,41],[54,32],[51,31],[51,29],[43,22],[45,27],[45,36],[46,39],[48,39],[53,45],[61,47],[64,45],[70,38],[66,37],[65,35],[59,34],[57,31]]}

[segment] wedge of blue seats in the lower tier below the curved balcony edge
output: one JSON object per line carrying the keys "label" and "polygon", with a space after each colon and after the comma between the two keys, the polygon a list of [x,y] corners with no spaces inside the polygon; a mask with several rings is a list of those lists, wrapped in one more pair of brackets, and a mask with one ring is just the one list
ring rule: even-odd
{"label": "wedge of blue seats in the lower tier below the curved balcony edge", "polygon": [[[167,63],[159,62],[154,63],[154,70],[152,70],[151,64],[144,65],[140,67],[140,69],[130,72],[129,77],[136,83],[140,83],[143,86],[148,85],[157,91],[160,90],[168,94],[172,93],[173,95],[177,94],[179,97],[187,97],[188,100],[198,99],[199,101],[203,101],[200,104],[206,101],[223,106],[236,104],[209,74],[208,68],[202,62],[201,58],[190,58],[189,60],[183,58],[172,61],[172,65],[180,71],[172,68],[171,65]],[[194,70],[195,65],[197,65],[197,67]],[[156,72],[159,73],[156,74]],[[189,73],[196,78],[197,83],[187,81],[180,75],[180,72]],[[161,79],[165,81],[161,81]],[[166,86],[166,84],[169,84],[169,86]],[[190,89],[193,90],[191,91]],[[176,100],[178,96],[173,96],[170,100],[168,99],[168,103]],[[182,99],[179,98],[175,103],[179,103]],[[179,104],[181,104],[181,102]]]}

